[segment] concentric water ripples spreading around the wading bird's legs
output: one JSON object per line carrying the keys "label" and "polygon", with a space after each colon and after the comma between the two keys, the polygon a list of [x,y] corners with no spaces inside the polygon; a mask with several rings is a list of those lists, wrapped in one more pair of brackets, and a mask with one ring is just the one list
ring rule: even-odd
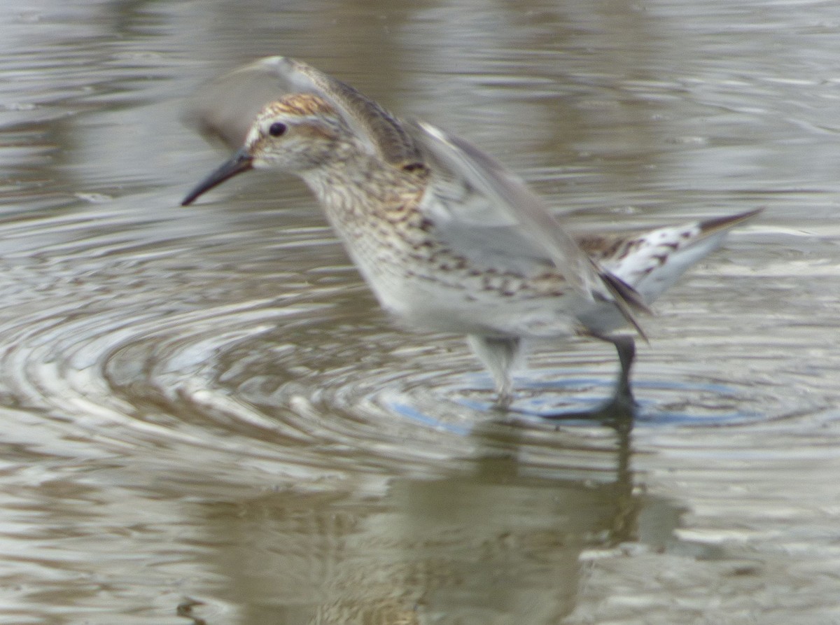
{"label": "concentric water ripples spreading around the wading bird's legs", "polygon": [[[525,465],[611,466],[609,428],[545,418],[610,397],[609,345],[538,349],[517,377],[516,412],[501,414],[463,340],[394,328],[323,226],[280,237],[240,226],[197,251],[177,229],[127,241],[108,229],[123,217],[99,217],[95,227],[83,213],[55,218],[87,235],[7,259],[3,274],[13,302],[0,319],[3,394],[50,417],[62,453],[87,436],[97,454],[205,449],[292,473],[423,471],[514,447]],[[737,425],[832,402],[834,391],[769,357],[811,341],[807,328],[798,341],[790,331],[797,312],[772,320],[785,333],[727,333],[732,302],[736,315],[758,306],[751,284],[696,280],[665,305],[651,346],[639,346],[638,426]]]}

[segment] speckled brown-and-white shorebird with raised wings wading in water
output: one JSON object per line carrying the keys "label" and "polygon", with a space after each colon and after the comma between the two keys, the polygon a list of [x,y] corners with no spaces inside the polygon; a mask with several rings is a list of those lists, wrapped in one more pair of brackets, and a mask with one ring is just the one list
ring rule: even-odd
{"label": "speckled brown-and-white shorebird with raised wings wading in water", "polygon": [[183,205],[254,168],[301,177],[381,306],[409,328],[465,334],[501,408],[522,341],[574,335],[615,345],[612,402],[632,406],[635,344],[616,330],[644,337],[638,313],[760,210],[574,237],[474,145],[281,56],[209,83],[189,115],[236,151]]}

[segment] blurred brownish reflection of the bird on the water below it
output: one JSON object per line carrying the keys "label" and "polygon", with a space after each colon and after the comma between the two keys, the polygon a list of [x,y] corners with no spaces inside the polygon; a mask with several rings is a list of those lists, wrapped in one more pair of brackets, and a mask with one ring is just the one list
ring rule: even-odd
{"label": "blurred brownish reflection of the bird on the water below it", "polygon": [[519,428],[472,436],[484,451],[464,470],[399,477],[372,500],[207,504],[223,596],[247,606],[239,622],[559,622],[581,552],[638,538],[629,432],[614,433],[612,470],[585,480],[523,464]]}

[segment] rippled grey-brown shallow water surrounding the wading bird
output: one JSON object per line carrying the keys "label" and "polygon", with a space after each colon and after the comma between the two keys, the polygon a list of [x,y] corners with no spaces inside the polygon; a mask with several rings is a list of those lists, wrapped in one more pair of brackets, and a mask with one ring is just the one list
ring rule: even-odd
{"label": "rippled grey-brown shallow water surrounding the wading bird", "polygon": [[[834,3],[0,8],[0,622],[840,620]],[[298,56],[579,228],[764,215],[519,412],[376,307],[297,181],[178,202],[180,98]]]}

